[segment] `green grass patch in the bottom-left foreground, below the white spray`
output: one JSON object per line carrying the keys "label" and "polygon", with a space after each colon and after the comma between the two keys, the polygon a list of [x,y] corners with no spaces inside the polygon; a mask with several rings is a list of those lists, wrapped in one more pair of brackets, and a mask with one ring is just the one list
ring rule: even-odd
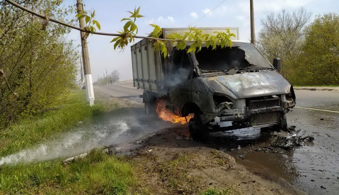
{"label": "green grass patch in the bottom-left foreground, below the white spray", "polygon": [[128,163],[99,150],[63,165],[60,161],[1,167],[4,194],[127,194],[136,180]]}

